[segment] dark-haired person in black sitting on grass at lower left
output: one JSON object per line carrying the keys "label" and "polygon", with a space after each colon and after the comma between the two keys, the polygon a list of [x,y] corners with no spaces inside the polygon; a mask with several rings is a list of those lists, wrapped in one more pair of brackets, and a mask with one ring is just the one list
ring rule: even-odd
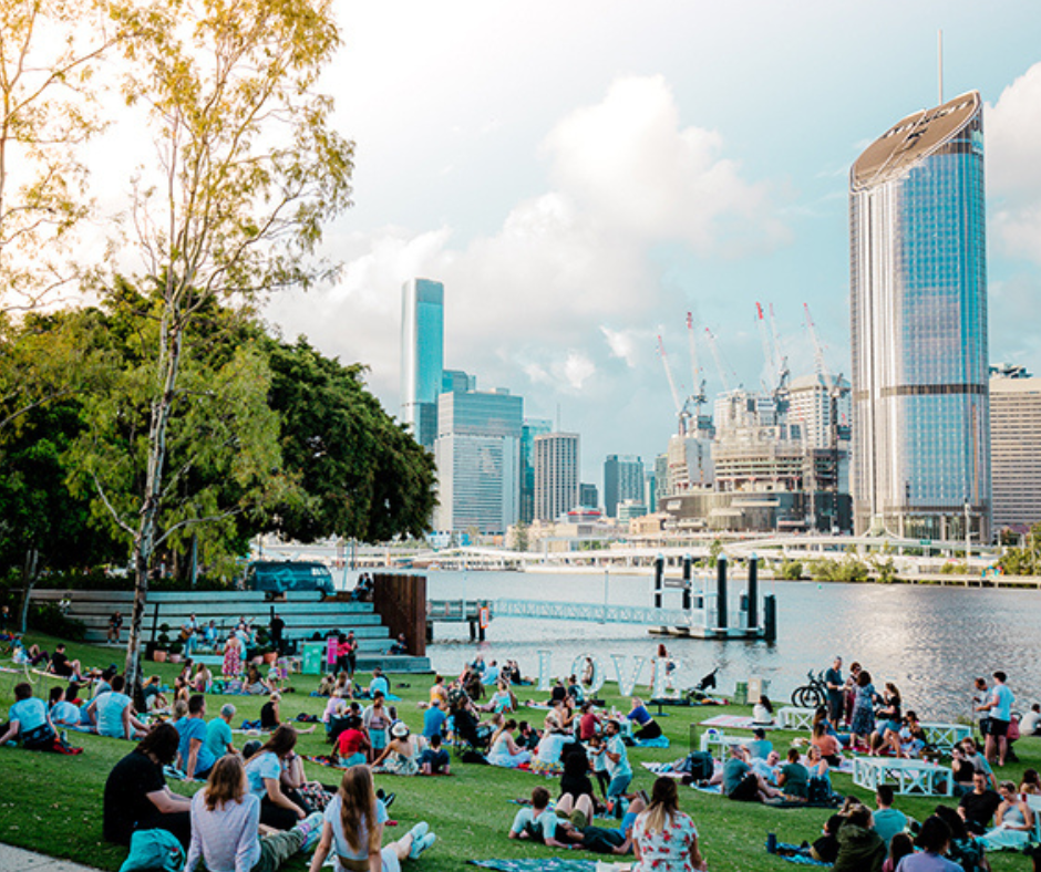
{"label": "dark-haired person in black sitting on grass at lower left", "polygon": [[189,800],[172,793],[163,767],[177,756],[181,737],[173,724],[159,724],[120,760],[105,781],[102,834],[106,841],[130,844],[135,830],[172,832],[187,848]]}

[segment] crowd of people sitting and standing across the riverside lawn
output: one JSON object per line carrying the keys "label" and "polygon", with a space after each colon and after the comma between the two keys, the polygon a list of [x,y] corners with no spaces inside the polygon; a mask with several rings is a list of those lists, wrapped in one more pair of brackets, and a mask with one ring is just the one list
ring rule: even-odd
{"label": "crowd of people sitting and standing across the riverside lawn", "polygon": [[[239,631],[248,627],[236,627],[231,639],[245,648]],[[17,650],[23,662],[45,654],[32,646]],[[876,689],[856,663],[844,676],[838,657],[824,676],[826,705],[808,736],[774,748],[766,731],[773,706],[761,697],[753,722],[762,726],[748,741],[732,744],[711,776],[658,777],[647,792],[633,789],[630,749],[662,733],[639,696],[629,698],[625,713],[608,709],[586,698],[589,682],[583,674],[581,681],[563,676],[545,697],[522,703],[517,664],[477,657],[454,678],[435,676],[420,706],[422,727],[410,727],[379,668],[368,685],[357,681],[353,634],[338,635],[329,650],[329,672],[317,693],[324,697],[327,761],[344,770],[339,783],[308,779],[299,724],[282,712],[280,693],[265,678],[258,678],[268,692],[261,739],[238,747],[236,706],[226,702],[209,710],[215,679],[204,663],[186,662],[173,687],[148,677],[138,710],[114,667],[85,668],[64,645],[38,661],[64,684],[41,699],[31,684],[19,683],[8,723],[0,726],[0,745],[20,740],[30,749],[59,750],[55,746],[68,747],[66,729],[133,741],[106,779],[104,837],[128,844],[136,831],[165,830],[187,851],[187,869],[205,865],[212,872],[274,870],[301,851],[313,851],[315,872],[330,854],[340,870],[375,868],[374,858],[383,869],[398,869],[436,837],[420,823],[384,845],[393,795],[378,796],[373,775],[451,775],[453,745],[463,762],[559,779],[556,798],[542,785],[532,791],[508,838],[558,850],[632,854],[637,870],[708,868],[694,822],[679,809],[680,788],[690,780],[703,789],[718,785],[731,801],[835,806],[812,844],[781,850],[831,863],[837,872],[971,872],[988,868],[987,852],[1022,849],[1034,831],[1030,797],[1041,802],[1041,777],[1028,769],[1017,783],[997,775],[1014,758],[1014,739],[1027,726],[1024,718],[1016,729],[1014,695],[1000,671],[976,682],[972,708],[985,737],[981,747],[967,738],[951,751],[957,804],[939,804],[919,824],[895,807],[898,797],[887,785],[876,790],[874,808],[853,797],[842,801],[834,791],[832,774],[853,754],[938,757],[895,683]],[[539,720],[519,719],[523,708],[540,710]],[[1031,710],[1041,722],[1041,712]],[[189,799],[168,788],[171,772],[205,783]],[[602,826],[611,818],[614,826]]]}

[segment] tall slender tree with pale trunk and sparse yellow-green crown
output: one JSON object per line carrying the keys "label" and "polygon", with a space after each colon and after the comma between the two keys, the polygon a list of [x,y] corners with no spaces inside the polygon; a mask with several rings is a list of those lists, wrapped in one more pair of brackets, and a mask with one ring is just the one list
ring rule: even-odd
{"label": "tall slender tree with pale trunk and sparse yellow-green crown", "polygon": [[[155,145],[134,178],[127,270],[158,301],[136,522],[120,521],[133,536],[126,676],[135,685],[172,417],[185,396],[185,335],[214,300],[248,305],[328,273],[312,258],[322,222],[349,205],[352,147],[316,91],[340,42],[331,0],[156,0],[118,14],[135,33],[124,43],[124,93]],[[106,499],[102,488],[99,496]]]}

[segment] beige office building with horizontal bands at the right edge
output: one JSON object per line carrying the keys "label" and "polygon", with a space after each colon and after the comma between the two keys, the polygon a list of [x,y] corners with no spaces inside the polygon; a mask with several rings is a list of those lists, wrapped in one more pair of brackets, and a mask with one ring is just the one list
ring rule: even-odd
{"label": "beige office building with horizontal bands at the right edge", "polygon": [[990,463],[994,530],[1041,521],[1041,378],[991,367]]}

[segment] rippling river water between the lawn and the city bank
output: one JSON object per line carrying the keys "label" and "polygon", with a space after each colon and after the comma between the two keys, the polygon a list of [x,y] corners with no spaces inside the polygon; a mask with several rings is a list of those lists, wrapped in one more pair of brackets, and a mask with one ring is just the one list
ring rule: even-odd
{"label": "rippling river water between the lawn and the city bank", "polygon": [[[651,605],[649,575],[431,571],[427,595],[440,599],[524,599]],[[744,590],[732,579],[732,594]],[[697,588],[697,583],[695,583]],[[465,624],[435,624],[427,647],[439,672],[457,674],[478,653],[485,660],[519,662],[537,675],[539,652],[550,651],[553,674],[571,671],[576,657],[597,655],[611,678],[611,654],[650,658],[662,641],[681,663],[677,686],[692,686],[715,666],[719,689],[759,676],[769,694],[786,704],[808,669],[823,669],[842,655],[859,661],[877,688],[894,682],[905,706],[925,720],[968,714],[972,678],[994,669],[1009,675],[1017,708],[1041,698],[1041,592],[918,586],[762,581],[762,593],[777,601],[777,640],[773,643],[659,639],[642,626],[493,619],[484,643],[471,643]],[[666,591],[666,608],[679,608],[680,592]],[[731,605],[733,608],[733,605]],[[647,683],[650,665],[640,683]]]}

